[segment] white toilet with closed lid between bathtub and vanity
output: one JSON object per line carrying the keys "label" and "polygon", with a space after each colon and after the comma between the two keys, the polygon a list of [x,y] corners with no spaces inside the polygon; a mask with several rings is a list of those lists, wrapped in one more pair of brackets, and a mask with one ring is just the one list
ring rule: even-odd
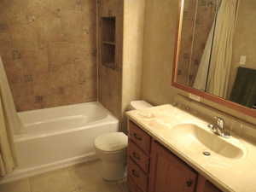
{"label": "white toilet with closed lid between bathtub and vanity", "polygon": [[[133,101],[130,109],[150,108],[148,102]],[[111,132],[96,137],[94,142],[96,154],[102,160],[102,178],[118,181],[126,177],[126,148],[128,137],[123,132]]]}

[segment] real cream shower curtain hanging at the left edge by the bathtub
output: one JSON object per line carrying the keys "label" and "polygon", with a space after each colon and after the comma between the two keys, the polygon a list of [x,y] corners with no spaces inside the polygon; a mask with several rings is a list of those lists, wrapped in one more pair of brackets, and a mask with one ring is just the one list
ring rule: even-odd
{"label": "real cream shower curtain hanging at the left edge by the bathtub", "polygon": [[16,166],[14,131],[20,129],[13,96],[0,57],[0,177],[13,172]]}

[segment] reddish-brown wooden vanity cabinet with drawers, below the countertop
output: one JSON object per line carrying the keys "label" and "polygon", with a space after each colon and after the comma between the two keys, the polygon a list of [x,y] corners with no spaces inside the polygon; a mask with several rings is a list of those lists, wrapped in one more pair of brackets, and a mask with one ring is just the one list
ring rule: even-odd
{"label": "reddish-brown wooden vanity cabinet with drawers, below the countertop", "polygon": [[131,120],[127,156],[131,192],[221,192]]}

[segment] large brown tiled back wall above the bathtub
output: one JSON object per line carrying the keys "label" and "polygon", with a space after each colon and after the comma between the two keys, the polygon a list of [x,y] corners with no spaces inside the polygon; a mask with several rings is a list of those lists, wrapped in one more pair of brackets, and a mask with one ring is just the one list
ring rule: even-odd
{"label": "large brown tiled back wall above the bathtub", "polygon": [[18,111],[96,100],[96,1],[1,0],[0,55]]}

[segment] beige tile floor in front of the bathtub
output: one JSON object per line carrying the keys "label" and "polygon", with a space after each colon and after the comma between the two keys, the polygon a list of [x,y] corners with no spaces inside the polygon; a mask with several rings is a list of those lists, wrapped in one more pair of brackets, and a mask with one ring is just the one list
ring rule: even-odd
{"label": "beige tile floor in front of the bathtub", "polygon": [[99,160],[0,185],[0,192],[128,192],[125,181],[108,183]]}

